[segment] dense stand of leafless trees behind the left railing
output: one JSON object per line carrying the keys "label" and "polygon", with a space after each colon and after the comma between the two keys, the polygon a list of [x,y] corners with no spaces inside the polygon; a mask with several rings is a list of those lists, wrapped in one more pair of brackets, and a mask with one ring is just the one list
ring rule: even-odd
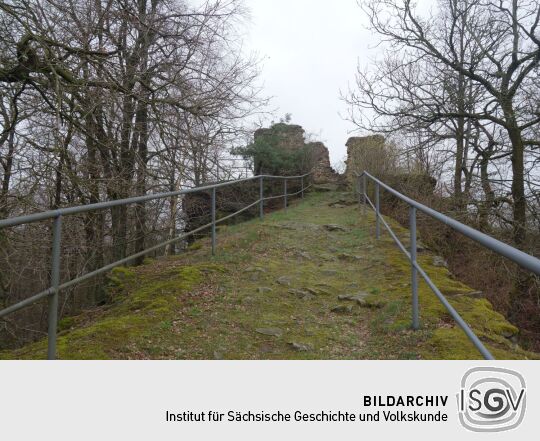
{"label": "dense stand of leafless trees behind the left railing", "polygon": [[[219,155],[265,104],[257,60],[241,50],[244,15],[241,0],[0,0],[2,216],[177,190],[218,175]],[[66,219],[63,277],[176,234],[178,206]],[[2,261],[33,267],[16,283],[13,271],[2,273],[0,301],[11,302],[47,283],[50,231],[2,234],[10,245]],[[91,304],[106,301],[102,282],[77,292]],[[67,293],[66,308],[74,295]],[[32,323],[43,316],[30,315]]]}

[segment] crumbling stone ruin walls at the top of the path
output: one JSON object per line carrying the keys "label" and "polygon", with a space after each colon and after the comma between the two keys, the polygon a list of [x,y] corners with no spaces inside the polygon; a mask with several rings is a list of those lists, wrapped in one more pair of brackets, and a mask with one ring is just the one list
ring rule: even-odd
{"label": "crumbling stone ruin walls at the top of the path", "polygon": [[[299,168],[305,170],[313,169],[313,183],[319,185],[320,189],[328,187],[351,188],[354,183],[354,172],[367,170],[376,177],[380,177],[396,190],[406,194],[415,194],[413,191],[425,194],[433,194],[436,181],[427,175],[418,175],[411,173],[396,173],[392,167],[390,149],[387,148],[385,138],[381,135],[355,136],[347,140],[347,160],[346,171],[344,175],[339,175],[330,166],[329,152],[322,142],[307,142],[304,138],[304,129],[299,125],[278,123],[270,128],[258,129],[254,138],[258,139],[265,136],[276,136],[278,146],[283,149],[295,150],[307,147],[309,152],[308,163],[300,164]],[[389,165],[390,164],[390,165]],[[255,164],[255,171],[257,171]],[[321,185],[322,184],[322,185]],[[331,184],[331,185],[324,185]],[[265,183],[265,194],[280,192],[281,187],[273,188],[281,183]],[[299,183],[291,181],[289,191],[298,191]],[[257,181],[248,181],[241,186],[230,186],[218,189],[216,192],[216,206],[219,216],[233,213],[246,205],[246,201],[257,199],[259,192]],[[386,196],[383,192],[382,197]],[[185,195],[182,200],[184,213],[185,231],[193,230],[201,225],[210,222],[210,201],[211,193],[198,192]],[[395,203],[395,198],[391,198],[391,203]],[[275,199],[265,203],[265,209],[275,209],[282,206],[282,201]],[[252,218],[257,215],[258,207],[243,213],[239,218],[232,218],[231,222],[241,222],[242,220]],[[193,239],[208,234],[203,231],[188,239]]]}

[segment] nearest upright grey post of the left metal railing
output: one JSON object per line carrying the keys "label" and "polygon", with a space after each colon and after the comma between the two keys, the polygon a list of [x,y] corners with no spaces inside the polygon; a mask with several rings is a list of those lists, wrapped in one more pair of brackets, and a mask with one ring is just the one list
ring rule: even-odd
{"label": "nearest upright grey post of the left metal railing", "polygon": [[60,242],[62,240],[62,216],[54,218],[51,255],[51,288],[48,305],[47,358],[56,359],[56,331],[58,328],[58,292],[60,286]]}

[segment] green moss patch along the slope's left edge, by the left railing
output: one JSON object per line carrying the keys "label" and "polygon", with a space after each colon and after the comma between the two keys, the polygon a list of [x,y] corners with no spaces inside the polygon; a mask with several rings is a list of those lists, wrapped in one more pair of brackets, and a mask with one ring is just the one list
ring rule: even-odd
{"label": "green moss patch along the slope's left edge, by the left railing", "polygon": [[[157,275],[164,269],[154,268]],[[156,274],[153,274],[156,276]],[[61,359],[131,358],[138,355],[138,347],[155,334],[164,331],[158,324],[172,322],[186,293],[201,282],[202,273],[195,266],[175,268],[175,275],[167,280],[148,281],[145,274],[132,269],[116,269],[114,279],[131,281],[131,288],[98,319],[90,324],[70,329],[83,322],[82,316],[62,319],[57,340],[57,353]],[[134,287],[133,285],[136,285]],[[118,286],[118,285],[117,285]],[[158,332],[159,334],[159,332]],[[44,358],[46,340],[25,346],[11,353],[0,353],[0,358]]]}

